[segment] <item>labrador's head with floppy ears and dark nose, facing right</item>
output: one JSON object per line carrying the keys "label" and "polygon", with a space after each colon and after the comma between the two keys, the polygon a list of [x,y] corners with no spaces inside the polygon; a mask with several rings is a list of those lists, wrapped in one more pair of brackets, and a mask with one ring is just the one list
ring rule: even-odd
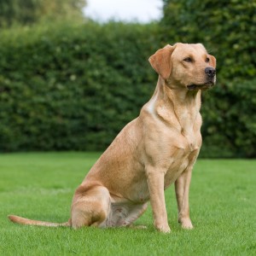
{"label": "labrador's head with floppy ears and dark nose, facing right", "polygon": [[148,61],[167,84],[206,90],[216,82],[216,59],[202,44],[167,44]]}

